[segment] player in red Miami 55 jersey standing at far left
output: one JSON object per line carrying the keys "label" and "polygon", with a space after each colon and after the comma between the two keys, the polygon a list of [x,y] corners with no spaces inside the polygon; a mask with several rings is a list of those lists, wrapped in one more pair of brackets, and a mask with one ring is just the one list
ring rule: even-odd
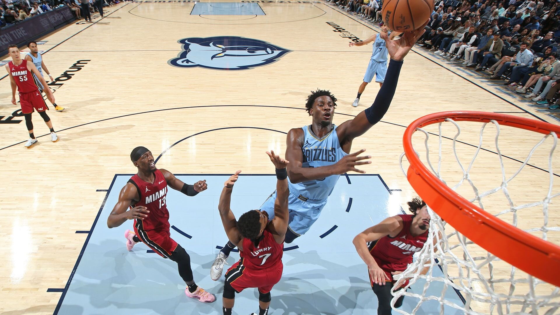
{"label": "player in red Miami 55 jersey standing at far left", "polygon": [[[17,86],[17,90],[20,92],[21,112],[24,114],[25,125],[27,127],[27,132],[29,132],[29,140],[25,143],[25,147],[29,149],[32,145],[37,143],[37,139],[33,134],[33,123],[31,122],[31,113],[33,113],[35,109],[39,112],[43,121],[45,121],[46,126],[49,127],[51,140],[57,142],[58,136],[54,132],[53,123],[45,112],[45,110],[49,108],[46,106],[45,100],[43,100],[43,95],[39,91],[39,87],[35,84],[33,75],[38,78],[43,86],[46,86],[45,79],[41,76],[35,64],[21,59],[20,50],[16,45],[8,46],[8,55],[12,57],[12,61],[6,64],[6,71],[8,71],[8,75],[10,75],[10,84],[12,87],[12,104],[17,105]],[[50,89],[46,89],[45,93],[46,97],[54,103],[53,92],[50,91]]]}

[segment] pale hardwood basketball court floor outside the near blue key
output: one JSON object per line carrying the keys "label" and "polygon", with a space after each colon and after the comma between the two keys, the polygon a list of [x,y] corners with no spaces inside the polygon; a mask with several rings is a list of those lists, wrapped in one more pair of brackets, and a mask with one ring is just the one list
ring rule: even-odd
{"label": "pale hardwood basketball court floor outside the near blue key", "polygon": [[[0,245],[4,262],[0,266],[0,314],[58,312],[61,295],[66,294],[86,240],[90,238],[92,224],[109,196],[111,181],[115,174],[136,172],[129,159],[133,147],[146,146],[154,156],[160,156],[159,168],[178,174],[200,174],[201,179],[204,174],[232,174],[237,169],[246,174],[269,174],[272,173],[270,161],[264,152],[272,149],[283,155],[285,133],[311,122],[304,110],[310,90],[328,89],[337,96],[336,124],[352,119],[374,101],[379,86],[370,84],[360,106],[351,106],[371,46],[350,48],[348,42],[353,38],[365,40],[377,33],[377,27],[324,2],[213,3],[224,4],[197,9],[194,1],[122,3],[108,8],[105,18],[93,16],[94,24],[78,22],[41,39],[47,41],[39,45],[39,50],[46,51],[44,62],[55,78],[54,96],[57,104],[66,107],[62,113],[48,112],[60,138],[56,143],[50,142],[46,136],[48,128],[34,114],[35,135],[41,137],[38,145],[25,149],[24,118],[17,112],[19,106],[10,102],[9,78],[2,74],[0,116],[1,121],[11,123],[0,124],[0,156],[6,167],[4,184],[0,186],[3,213],[0,235],[4,240]],[[256,58],[251,63],[240,63],[238,70],[212,68],[212,63],[204,63],[204,58],[185,61],[189,57],[185,57],[187,52],[180,40],[215,36],[266,42],[273,45],[269,49],[272,53],[268,48],[255,52],[271,54],[272,59]],[[388,202],[381,205],[393,209],[388,213],[399,213],[400,206],[404,207],[406,201],[416,196],[399,166],[403,132],[414,119],[447,110],[479,110],[558,124],[556,114],[539,111],[529,106],[533,103],[511,97],[472,73],[452,67],[426,50],[414,48],[405,58],[388,113],[365,135],[354,140],[353,151],[363,148],[366,154],[372,155],[372,164],[363,169],[368,174],[379,174],[391,191]],[[463,130],[465,143],[458,148],[461,155],[472,156],[478,145],[479,128],[480,124]],[[451,138],[453,135],[453,131],[447,134]],[[501,154],[508,157],[504,160],[505,168],[515,172],[540,136],[503,128],[500,139]],[[482,179],[482,190],[493,185],[485,183],[488,174],[501,178],[493,135],[488,133],[486,140],[487,151],[481,152],[478,158],[482,166],[473,169],[471,175]],[[423,146],[422,141],[419,140],[419,147]],[[551,143],[545,143],[548,149],[535,152],[531,166],[517,177],[517,186],[511,187],[516,202],[538,201],[546,196],[547,150]],[[452,155],[449,156],[451,159]],[[560,163],[558,154],[554,156],[552,166],[557,179]],[[450,176],[462,176],[452,163],[442,167]],[[216,186],[219,185],[217,181]],[[558,184],[553,187],[553,194],[558,192],[558,187]],[[118,192],[120,187],[114,189]],[[465,189],[464,193],[468,195],[469,190]],[[262,198],[258,200],[262,201]],[[496,214],[507,207],[504,200],[497,198],[486,210]],[[185,208],[192,212],[193,222],[201,215],[188,205]],[[550,207],[548,226],[560,225],[557,210],[557,205]],[[323,214],[320,220],[327,220],[327,215]],[[520,228],[543,225],[542,213],[518,215]],[[96,229],[108,230],[105,220],[106,216],[100,216]],[[347,222],[343,227],[348,233],[340,236],[341,244],[347,246],[346,252],[354,252],[351,243],[354,235],[379,221],[379,218],[364,217],[356,224]],[[121,227],[123,231],[127,224]],[[540,236],[538,232],[535,235]],[[216,244],[225,243],[225,238],[222,239],[224,242],[216,240]],[[548,240],[559,244],[560,233],[549,232]],[[207,261],[204,268],[208,270],[217,252],[210,249],[201,258]],[[198,270],[199,277],[209,278],[209,271],[204,274],[204,268]],[[367,268],[358,266],[357,270],[355,277],[362,279],[364,298],[354,300],[353,309],[358,309],[359,301],[367,295],[375,299],[371,288],[367,291]],[[503,272],[507,274],[507,268]],[[212,283],[216,285],[212,293],[221,297],[220,285]],[[508,291],[505,285],[501,289],[504,293]],[[552,291],[552,286],[549,289]],[[297,287],[290,291],[297,297]],[[97,301],[99,305],[104,303],[104,300]],[[219,312],[221,300],[214,304]],[[284,314],[298,313],[290,310],[289,305],[275,305],[274,291],[272,308],[278,314],[282,313],[281,308]],[[73,310],[74,314],[87,313],[82,308]]]}

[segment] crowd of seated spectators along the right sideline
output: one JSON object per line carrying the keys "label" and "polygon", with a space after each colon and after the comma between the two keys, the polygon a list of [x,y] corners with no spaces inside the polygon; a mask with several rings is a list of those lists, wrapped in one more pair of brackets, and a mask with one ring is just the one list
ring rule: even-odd
{"label": "crowd of seated spectators along the right sideline", "polygon": [[[327,0],[372,23],[383,0]],[[388,0],[385,0],[388,1]],[[560,0],[444,0],[418,45],[560,110]],[[557,101],[554,101],[557,99]]]}

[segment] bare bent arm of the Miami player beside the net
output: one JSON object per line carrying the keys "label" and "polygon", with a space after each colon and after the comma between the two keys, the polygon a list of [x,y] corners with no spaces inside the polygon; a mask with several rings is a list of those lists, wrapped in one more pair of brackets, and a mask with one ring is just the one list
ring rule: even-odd
{"label": "bare bent arm of the Miami player beside the net", "polygon": [[356,237],[352,240],[354,247],[356,247],[356,251],[362,258],[363,262],[366,263],[371,279],[374,283],[385,284],[385,280],[389,280],[389,278],[385,274],[385,271],[381,270],[379,265],[377,265],[374,257],[371,256],[370,251],[367,248],[367,242],[373,242],[385,235],[396,236],[402,229],[403,219],[398,215],[391,216],[356,235]]}

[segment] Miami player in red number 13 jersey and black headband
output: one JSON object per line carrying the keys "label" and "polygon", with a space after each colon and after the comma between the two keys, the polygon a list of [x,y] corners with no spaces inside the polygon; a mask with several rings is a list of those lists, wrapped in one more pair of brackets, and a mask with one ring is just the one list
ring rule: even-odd
{"label": "Miami player in red number 13 jersey and black headband", "polygon": [[132,150],[130,160],[138,168],[138,173],[121,189],[119,201],[109,215],[107,225],[115,228],[127,220],[134,220],[134,232],[127,230],[124,233],[127,249],[130,251],[134,244],[144,242],[161,257],[177,263],[179,275],[187,286],[187,297],[204,303],[214,302],[216,297],[213,294],[194,283],[189,254],[170,237],[166,202],[167,185],[187,196],[196,196],[208,188],[206,180],[200,180],[194,185],[181,182],[169,171],[157,169],[152,152],[142,146]]}

